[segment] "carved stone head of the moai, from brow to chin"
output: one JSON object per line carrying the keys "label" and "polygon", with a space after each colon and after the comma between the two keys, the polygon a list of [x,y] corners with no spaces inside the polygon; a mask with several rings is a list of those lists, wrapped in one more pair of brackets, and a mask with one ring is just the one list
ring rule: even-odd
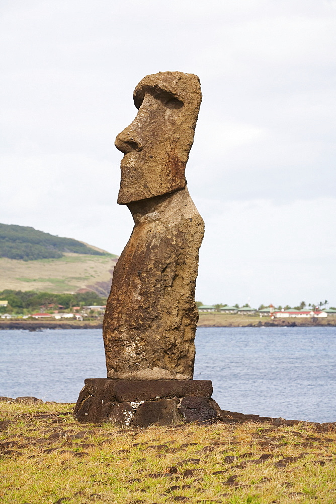
{"label": "carved stone head of the moai, from brow to chin", "polygon": [[138,113],[115,142],[124,153],[121,205],[185,187],[202,99],[199,78],[183,72],[147,75],[136,86],[133,99]]}

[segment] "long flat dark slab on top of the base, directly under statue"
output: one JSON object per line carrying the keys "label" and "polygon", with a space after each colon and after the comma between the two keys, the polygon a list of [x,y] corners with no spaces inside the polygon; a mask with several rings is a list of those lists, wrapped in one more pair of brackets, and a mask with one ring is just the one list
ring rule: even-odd
{"label": "long flat dark slab on top of the base, directly under statue", "polygon": [[210,380],[118,380],[115,395],[119,402],[146,401],[172,397],[211,397]]}

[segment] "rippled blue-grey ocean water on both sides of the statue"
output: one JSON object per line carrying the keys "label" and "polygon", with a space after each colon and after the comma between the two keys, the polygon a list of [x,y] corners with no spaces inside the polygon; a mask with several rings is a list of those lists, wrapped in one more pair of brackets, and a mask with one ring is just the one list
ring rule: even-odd
{"label": "rippled blue-grey ocean water on both sides of the statue", "polygon": [[[336,328],[198,328],[195,380],[222,409],[336,421]],[[102,331],[0,331],[0,396],[75,402],[106,376]]]}

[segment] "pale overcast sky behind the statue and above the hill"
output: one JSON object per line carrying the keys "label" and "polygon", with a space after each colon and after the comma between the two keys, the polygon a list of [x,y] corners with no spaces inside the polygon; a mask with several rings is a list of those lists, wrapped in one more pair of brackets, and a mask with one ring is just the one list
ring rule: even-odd
{"label": "pale overcast sky behind the statue and above the hill", "polygon": [[116,135],[147,74],[200,77],[197,299],[336,305],[333,0],[2,0],[0,222],[120,254]]}

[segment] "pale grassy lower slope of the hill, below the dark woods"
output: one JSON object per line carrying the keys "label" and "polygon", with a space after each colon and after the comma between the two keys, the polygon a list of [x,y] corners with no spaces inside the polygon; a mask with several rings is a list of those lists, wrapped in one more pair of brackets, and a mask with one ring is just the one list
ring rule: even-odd
{"label": "pale grassy lower slope of the hill, below the dark woods", "polygon": [[104,288],[105,283],[111,285],[116,262],[117,256],[86,254],[64,254],[60,259],[36,261],[0,258],[0,291],[71,293],[99,284]]}

